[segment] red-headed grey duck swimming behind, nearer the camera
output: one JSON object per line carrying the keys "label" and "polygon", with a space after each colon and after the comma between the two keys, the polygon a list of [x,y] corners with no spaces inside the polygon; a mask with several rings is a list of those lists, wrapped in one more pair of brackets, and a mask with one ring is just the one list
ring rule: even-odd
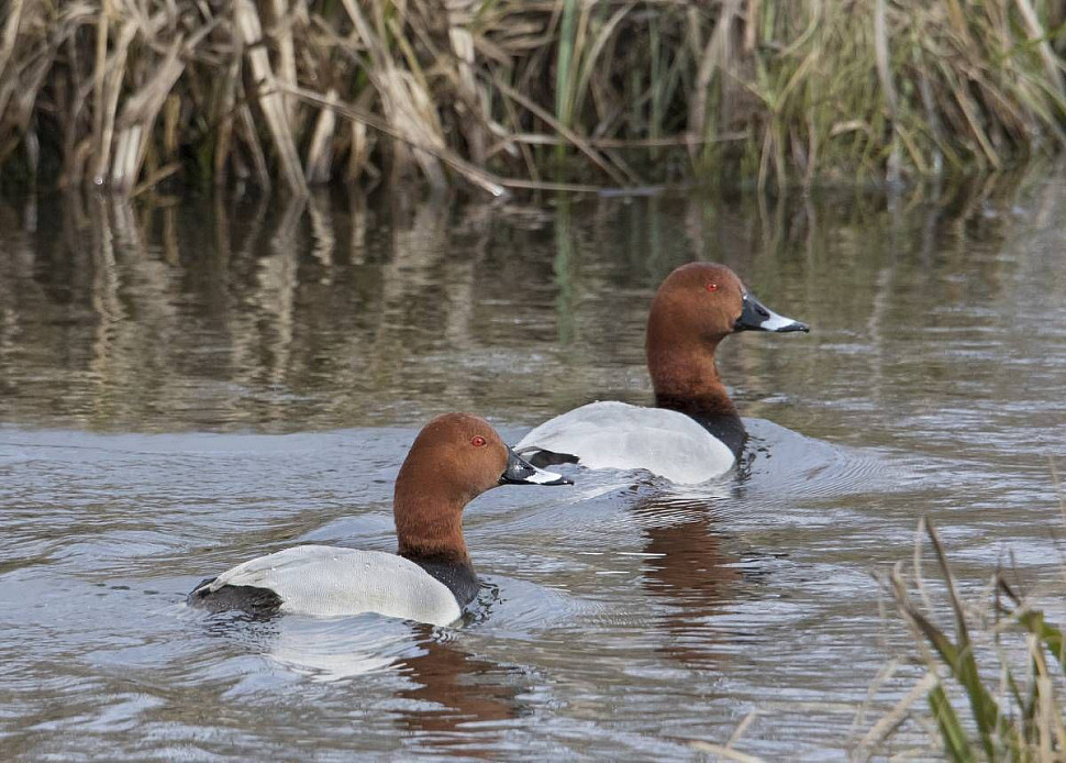
{"label": "red-headed grey duck swimming behind, nearer the camera", "polygon": [[571,485],[503,443],[484,419],[446,413],[422,428],[396,477],[397,552],[297,545],[200,582],[189,605],[313,617],[377,612],[447,626],[479,588],[463,535],[463,510],[500,485]]}

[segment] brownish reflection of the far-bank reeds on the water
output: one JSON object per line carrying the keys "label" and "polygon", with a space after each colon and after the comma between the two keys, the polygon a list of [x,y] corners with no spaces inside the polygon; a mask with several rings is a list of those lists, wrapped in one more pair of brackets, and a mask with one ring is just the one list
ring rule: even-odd
{"label": "brownish reflection of the far-bank reeds on the water", "polygon": [[[995,251],[1015,192],[988,185],[930,201],[919,189],[906,204],[859,196],[818,213],[808,198],[769,219],[700,197],[564,199],[553,214],[323,193],[0,203],[0,378],[14,390],[3,405],[9,420],[48,410],[53,423],[104,429],[288,430],[644,401],[647,299],[692,258],[732,266],[822,336],[862,342],[863,384],[885,401],[903,316],[925,313],[928,331],[974,288],[1001,299],[1017,266]],[[871,240],[878,226],[888,233]],[[549,257],[531,256],[545,247]],[[731,341],[723,358],[751,414],[779,391],[775,364],[815,362],[810,343],[763,344]],[[937,365],[915,371],[935,377]]]}

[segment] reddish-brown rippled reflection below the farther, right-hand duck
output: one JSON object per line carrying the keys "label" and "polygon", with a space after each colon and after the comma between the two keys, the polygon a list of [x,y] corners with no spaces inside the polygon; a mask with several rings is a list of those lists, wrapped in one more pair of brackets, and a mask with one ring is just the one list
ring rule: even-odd
{"label": "reddish-brown rippled reflection below the farther, right-hand duck", "polygon": [[708,619],[737,591],[740,561],[722,549],[713,497],[651,496],[632,507],[644,524],[645,590],[668,608],[656,624],[669,637],[663,651],[686,665],[719,662],[717,631]]}

